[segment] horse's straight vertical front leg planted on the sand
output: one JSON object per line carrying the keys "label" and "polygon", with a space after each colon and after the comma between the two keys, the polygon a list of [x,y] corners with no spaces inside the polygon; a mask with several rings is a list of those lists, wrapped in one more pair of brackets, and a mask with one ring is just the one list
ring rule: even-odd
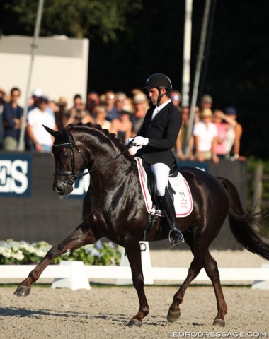
{"label": "horse's straight vertical front leg planted on the sand", "polygon": [[137,290],[139,299],[139,311],[132,317],[127,325],[140,327],[142,326],[142,319],[149,314],[149,305],[144,292],[144,277],[139,242],[134,242],[125,246],[125,251],[132,270],[132,282]]}

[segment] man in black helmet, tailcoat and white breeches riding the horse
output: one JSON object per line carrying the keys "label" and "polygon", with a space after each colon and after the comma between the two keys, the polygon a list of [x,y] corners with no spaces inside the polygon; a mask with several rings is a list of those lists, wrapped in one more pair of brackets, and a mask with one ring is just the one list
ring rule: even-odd
{"label": "man in black helmet, tailcoat and white breeches riding the horse", "polygon": [[156,195],[171,228],[169,234],[171,245],[176,246],[183,243],[184,239],[181,231],[178,230],[176,211],[167,186],[170,169],[174,166],[172,148],[176,144],[181,128],[181,113],[169,98],[172,83],[168,76],[161,73],[152,74],[144,88],[148,91],[152,105],[135,136],[134,143],[142,146],[137,155],[143,157],[151,166],[156,177]]}

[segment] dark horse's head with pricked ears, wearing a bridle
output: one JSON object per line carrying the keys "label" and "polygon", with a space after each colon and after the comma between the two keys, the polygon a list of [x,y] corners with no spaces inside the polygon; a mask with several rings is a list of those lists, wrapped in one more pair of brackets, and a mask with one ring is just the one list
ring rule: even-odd
{"label": "dark horse's head with pricked ears, wearing a bridle", "polygon": [[47,126],[44,128],[55,138],[52,146],[55,157],[53,191],[60,196],[67,195],[73,191],[72,185],[76,178],[81,177],[81,172],[88,165],[88,159],[76,145],[71,129],[54,131]]}

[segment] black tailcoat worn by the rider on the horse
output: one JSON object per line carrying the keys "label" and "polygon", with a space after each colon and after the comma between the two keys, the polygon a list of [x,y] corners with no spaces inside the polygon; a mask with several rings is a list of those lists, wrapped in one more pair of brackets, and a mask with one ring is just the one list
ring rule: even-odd
{"label": "black tailcoat worn by the rider on the horse", "polygon": [[181,112],[173,102],[169,102],[151,121],[155,106],[150,107],[144,118],[137,136],[149,138],[147,146],[137,152],[137,156],[144,157],[150,165],[162,162],[173,168],[172,148],[176,145],[176,138],[181,128]]}

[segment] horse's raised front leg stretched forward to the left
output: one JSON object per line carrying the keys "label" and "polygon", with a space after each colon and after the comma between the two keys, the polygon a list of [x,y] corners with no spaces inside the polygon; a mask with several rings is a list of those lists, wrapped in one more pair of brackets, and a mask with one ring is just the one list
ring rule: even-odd
{"label": "horse's raised front leg stretched forward to the left", "polygon": [[93,231],[87,225],[82,223],[79,227],[72,232],[69,237],[64,239],[63,242],[53,246],[50,251],[47,252],[44,258],[38,263],[37,266],[29,273],[28,278],[23,280],[23,282],[18,285],[14,295],[18,297],[27,297],[30,293],[30,288],[33,283],[40,277],[41,273],[45,268],[58,256],[71,251],[73,249],[79,249],[79,247],[86,244],[93,244],[98,239],[96,239]]}

